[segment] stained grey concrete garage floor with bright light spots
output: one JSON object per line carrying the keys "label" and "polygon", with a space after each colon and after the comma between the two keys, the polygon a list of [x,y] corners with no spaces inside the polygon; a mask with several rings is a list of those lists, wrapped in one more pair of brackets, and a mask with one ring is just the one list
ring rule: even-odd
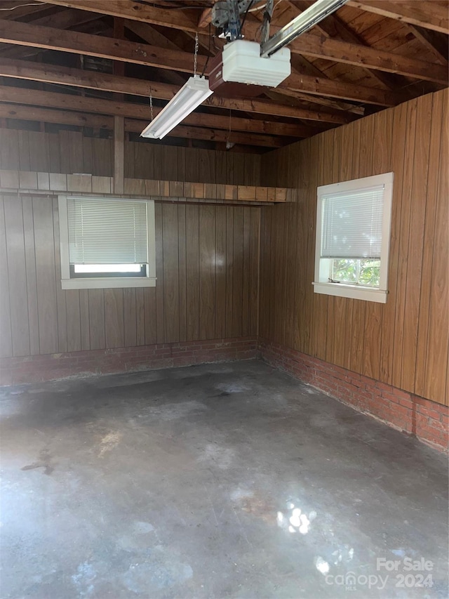
{"label": "stained grey concrete garage floor with bright light spots", "polygon": [[447,596],[445,457],[262,362],[0,398],[1,598]]}

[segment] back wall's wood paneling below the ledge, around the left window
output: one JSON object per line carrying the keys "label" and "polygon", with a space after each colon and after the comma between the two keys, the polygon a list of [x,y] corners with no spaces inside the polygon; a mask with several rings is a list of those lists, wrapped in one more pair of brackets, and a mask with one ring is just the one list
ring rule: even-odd
{"label": "back wall's wood paneling below the ledge, around the left window", "polygon": [[257,335],[260,208],[156,202],[156,287],[60,285],[58,201],[0,199],[0,356]]}

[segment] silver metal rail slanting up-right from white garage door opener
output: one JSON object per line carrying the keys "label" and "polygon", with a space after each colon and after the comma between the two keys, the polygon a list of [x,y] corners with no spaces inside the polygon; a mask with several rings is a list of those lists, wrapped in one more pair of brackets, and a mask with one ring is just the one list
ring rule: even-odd
{"label": "silver metal rail slanting up-right from white garage door opener", "polygon": [[335,13],[347,0],[316,0],[307,10],[284,25],[278,32],[260,46],[260,55],[268,58],[296,37],[314,27],[328,15]]}

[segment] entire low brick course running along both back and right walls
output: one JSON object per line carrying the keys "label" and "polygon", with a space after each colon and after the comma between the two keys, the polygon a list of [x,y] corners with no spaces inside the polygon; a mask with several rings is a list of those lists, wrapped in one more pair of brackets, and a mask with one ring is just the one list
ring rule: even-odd
{"label": "entire low brick course running along both back and right walls", "polygon": [[4,357],[0,358],[0,386],[255,357],[360,412],[448,451],[448,407],[283,345],[250,337]]}

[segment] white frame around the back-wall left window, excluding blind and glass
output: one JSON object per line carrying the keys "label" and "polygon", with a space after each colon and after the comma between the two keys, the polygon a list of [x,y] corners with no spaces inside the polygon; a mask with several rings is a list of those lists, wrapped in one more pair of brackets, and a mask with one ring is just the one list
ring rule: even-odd
{"label": "white frame around the back-wall left window, excluding blind and glass", "polygon": [[[145,202],[147,204],[148,265],[146,277],[71,277],[69,260],[69,221],[67,199],[95,199],[105,202]],[[62,289],[121,289],[125,287],[156,287],[156,229],[154,200],[135,197],[97,195],[58,195],[60,261]]]}

